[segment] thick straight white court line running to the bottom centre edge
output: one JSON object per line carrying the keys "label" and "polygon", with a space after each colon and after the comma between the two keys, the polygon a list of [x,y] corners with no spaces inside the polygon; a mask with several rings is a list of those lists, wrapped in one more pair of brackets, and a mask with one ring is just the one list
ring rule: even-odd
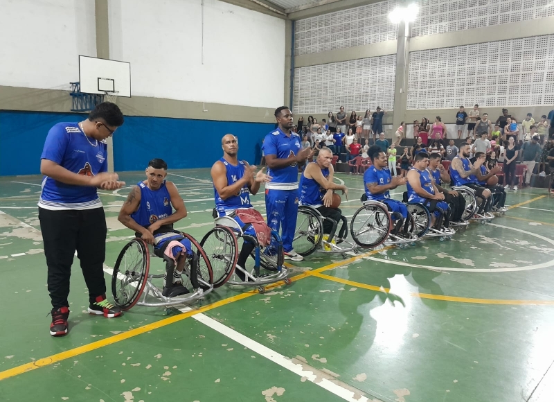
{"label": "thick straight white court line running to the bottom centre edge", "polygon": [[[319,385],[319,387],[322,387],[324,390],[328,390],[332,394],[339,396],[341,399],[345,401],[349,401],[349,402],[368,402],[369,401],[369,399],[367,399],[365,396],[361,396],[362,391],[360,391],[359,393],[355,393],[346,389],[345,387],[342,387],[337,383],[329,381],[327,378],[321,378],[311,370],[304,369],[302,365],[292,362],[292,360],[290,360],[289,358],[286,358],[282,354],[274,350],[271,350],[268,347],[265,347],[264,345],[256,342],[255,340],[251,340],[247,336],[242,335],[242,333],[238,333],[234,329],[229,328],[229,326],[225,326],[224,324],[221,324],[220,322],[213,320],[212,318],[208,317],[207,315],[204,315],[203,313],[195,314],[193,315],[193,318],[198,322],[202,322],[202,324],[209,326],[211,329],[221,333],[222,335],[225,335],[227,338],[239,344],[242,344],[242,346],[247,347],[251,351],[258,353],[260,356],[263,356],[268,360],[271,360],[272,362],[276,363],[277,365],[280,365],[281,367],[289,370],[289,372],[293,372],[294,374],[300,376],[301,378],[305,378],[308,381],[311,381],[312,383],[314,383],[315,385]],[[382,398],[382,396],[380,397]]]}

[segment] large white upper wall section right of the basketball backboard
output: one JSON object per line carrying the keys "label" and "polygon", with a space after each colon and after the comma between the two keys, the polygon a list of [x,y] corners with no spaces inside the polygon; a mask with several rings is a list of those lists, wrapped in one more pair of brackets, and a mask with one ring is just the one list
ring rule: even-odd
{"label": "large white upper wall section right of the basketball backboard", "polygon": [[283,103],[283,19],[204,0],[202,41],[201,0],[110,0],[109,40],[110,58],[131,62],[133,96]]}

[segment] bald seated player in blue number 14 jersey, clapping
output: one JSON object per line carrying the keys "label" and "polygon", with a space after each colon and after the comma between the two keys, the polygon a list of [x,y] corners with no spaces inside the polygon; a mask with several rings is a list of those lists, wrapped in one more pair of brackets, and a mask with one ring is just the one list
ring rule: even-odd
{"label": "bald seated player in blue number 14 jersey, clapping", "polygon": [[[212,166],[211,176],[215,193],[215,211],[217,216],[232,216],[240,227],[244,222],[236,215],[240,209],[253,210],[250,202],[250,193],[256,195],[260,190],[260,184],[271,182],[271,176],[266,175],[263,169],[256,173],[256,166],[250,166],[247,161],[238,160],[238,141],[233,134],[226,134],[221,140],[223,157]],[[263,218],[260,215],[260,220]],[[265,222],[264,222],[265,223]],[[244,230],[244,234],[256,236],[254,227],[250,225]],[[244,240],[242,250],[238,256],[237,265],[244,270],[248,256],[256,245]],[[235,270],[242,281],[246,275],[242,270]]]}

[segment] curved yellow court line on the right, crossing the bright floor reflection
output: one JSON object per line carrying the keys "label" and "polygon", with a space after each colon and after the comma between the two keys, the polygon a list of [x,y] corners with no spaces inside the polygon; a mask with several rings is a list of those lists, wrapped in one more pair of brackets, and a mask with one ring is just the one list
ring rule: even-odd
{"label": "curved yellow court line on the right, crossing the bright floor reflection", "polygon": [[[356,288],[375,290],[375,292],[391,292],[388,288],[379,286],[367,285],[366,283],[350,281],[348,279],[342,279],[337,277],[331,277],[330,275],[315,273],[314,277],[321,279],[327,279],[328,281],[339,282],[345,285],[354,286]],[[417,293],[410,292],[411,297],[418,297],[419,299],[433,299],[442,300],[443,302],[458,302],[458,303],[472,303],[472,304],[503,304],[506,306],[552,306],[554,300],[502,300],[502,299],[474,299],[472,297],[457,297],[457,296],[445,296],[445,295],[431,295],[429,293]]]}

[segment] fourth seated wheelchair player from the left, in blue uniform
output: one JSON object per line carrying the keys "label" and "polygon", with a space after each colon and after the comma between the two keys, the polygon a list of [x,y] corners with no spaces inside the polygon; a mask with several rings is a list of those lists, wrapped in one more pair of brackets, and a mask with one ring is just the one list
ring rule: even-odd
{"label": "fourth seated wheelchair player from the left, in blue uniform", "polygon": [[[406,225],[408,225],[409,220],[406,220],[408,218],[408,208],[402,202],[393,200],[389,190],[406,184],[406,178],[391,176],[391,171],[388,170],[386,153],[379,146],[371,146],[368,149],[368,156],[372,165],[364,173],[364,190],[366,193],[365,197],[362,195],[361,200],[379,201],[386,204],[394,222],[391,233],[398,234],[402,229],[402,222],[406,222]],[[406,227],[404,227],[404,231],[406,231]]]}

